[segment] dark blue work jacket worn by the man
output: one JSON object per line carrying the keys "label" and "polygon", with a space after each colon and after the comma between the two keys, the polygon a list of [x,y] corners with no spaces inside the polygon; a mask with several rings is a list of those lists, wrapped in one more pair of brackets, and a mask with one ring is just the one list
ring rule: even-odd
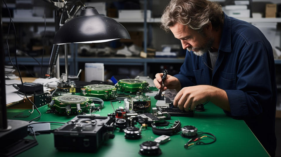
{"label": "dark blue work jacket worn by the man", "polygon": [[224,14],[213,72],[210,63],[209,67],[206,64],[208,53],[197,56],[187,51],[180,72],[175,75],[181,87],[212,85],[225,90],[231,110],[225,113],[243,119],[273,155],[277,89],[269,41],[255,26]]}

